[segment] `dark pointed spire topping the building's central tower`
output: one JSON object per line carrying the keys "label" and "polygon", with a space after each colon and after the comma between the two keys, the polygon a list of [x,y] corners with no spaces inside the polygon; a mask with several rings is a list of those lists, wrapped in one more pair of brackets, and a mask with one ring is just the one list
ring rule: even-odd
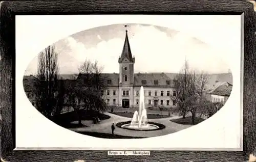
{"label": "dark pointed spire topping the building's central tower", "polygon": [[124,58],[127,58],[127,60],[129,60],[130,62],[134,62],[129,39],[128,39],[127,29],[126,29],[127,25],[124,25],[124,28],[125,28],[125,40],[123,44],[122,54],[121,54],[121,57],[118,59],[118,63],[121,63]]}

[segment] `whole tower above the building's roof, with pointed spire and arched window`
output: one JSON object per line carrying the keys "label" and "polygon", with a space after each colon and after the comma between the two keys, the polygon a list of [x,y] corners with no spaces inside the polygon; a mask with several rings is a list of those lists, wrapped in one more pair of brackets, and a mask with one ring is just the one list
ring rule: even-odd
{"label": "whole tower above the building's roof, with pointed spire and arched window", "polygon": [[[126,27],[126,25],[125,25]],[[119,63],[119,86],[133,86],[134,83],[134,63],[135,58],[132,57],[130,43],[125,30],[125,40]]]}

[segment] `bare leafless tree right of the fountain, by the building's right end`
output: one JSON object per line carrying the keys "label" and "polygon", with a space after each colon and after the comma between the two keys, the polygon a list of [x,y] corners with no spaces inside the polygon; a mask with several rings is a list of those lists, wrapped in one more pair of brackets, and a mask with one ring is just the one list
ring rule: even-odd
{"label": "bare leafless tree right of the fountain, by the building's right end", "polygon": [[195,124],[197,109],[204,106],[203,92],[208,82],[208,74],[197,72],[189,68],[185,61],[184,67],[175,79],[176,96],[171,96],[176,100],[180,113],[185,118],[187,113],[192,114],[192,123]]}

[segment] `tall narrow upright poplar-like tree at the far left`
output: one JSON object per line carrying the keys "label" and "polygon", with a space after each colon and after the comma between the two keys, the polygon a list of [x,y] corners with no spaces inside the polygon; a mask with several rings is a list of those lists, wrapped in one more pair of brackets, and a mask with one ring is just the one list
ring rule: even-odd
{"label": "tall narrow upright poplar-like tree at the far left", "polygon": [[36,88],[36,106],[47,118],[56,113],[58,103],[58,64],[54,46],[48,46],[39,53]]}

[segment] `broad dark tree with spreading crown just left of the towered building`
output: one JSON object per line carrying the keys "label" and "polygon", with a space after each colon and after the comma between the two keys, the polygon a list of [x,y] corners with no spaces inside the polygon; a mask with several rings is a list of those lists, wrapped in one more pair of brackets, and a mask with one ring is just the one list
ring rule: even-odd
{"label": "broad dark tree with spreading crown just left of the towered building", "polygon": [[99,66],[97,61],[86,60],[78,70],[83,75],[82,79],[68,84],[65,94],[78,117],[78,124],[81,125],[82,116],[87,114],[88,110],[99,113],[106,109],[101,93],[105,88],[105,79],[101,76],[103,67]]}

